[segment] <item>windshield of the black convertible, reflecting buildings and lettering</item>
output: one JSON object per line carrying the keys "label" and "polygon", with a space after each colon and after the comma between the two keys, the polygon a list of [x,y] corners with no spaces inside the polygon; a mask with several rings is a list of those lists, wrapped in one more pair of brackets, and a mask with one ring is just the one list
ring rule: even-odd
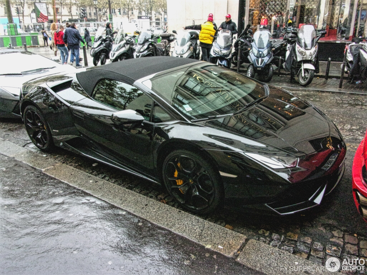
{"label": "windshield of the black convertible, reflecting buildings and lettering", "polygon": [[143,84],[189,120],[232,114],[265,96],[258,82],[209,63],[161,74]]}

